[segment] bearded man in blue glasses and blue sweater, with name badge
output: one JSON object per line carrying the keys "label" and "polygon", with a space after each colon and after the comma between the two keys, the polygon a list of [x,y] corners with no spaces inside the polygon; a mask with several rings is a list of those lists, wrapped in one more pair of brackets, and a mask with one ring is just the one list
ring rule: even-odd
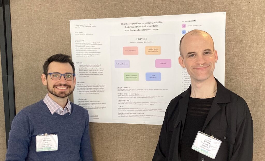
{"label": "bearded man in blue glasses and blue sweater, with name badge", "polygon": [[48,58],[41,79],[48,93],[15,116],[6,160],[92,161],[88,111],[68,99],[76,85],[70,56]]}

